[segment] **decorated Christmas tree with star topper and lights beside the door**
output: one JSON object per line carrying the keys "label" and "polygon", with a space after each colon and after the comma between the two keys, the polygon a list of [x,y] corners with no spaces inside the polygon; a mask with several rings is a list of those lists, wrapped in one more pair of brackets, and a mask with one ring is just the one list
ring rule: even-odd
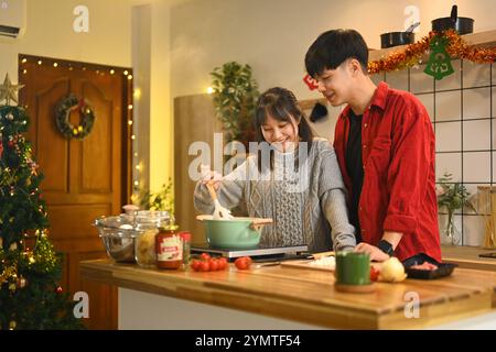
{"label": "decorated Christmas tree with star topper and lights beside the door", "polygon": [[[0,329],[78,329],[75,302],[62,293],[62,255],[47,238],[43,175],[23,133],[29,119],[6,76],[0,85]],[[2,105],[2,102],[4,105]]]}

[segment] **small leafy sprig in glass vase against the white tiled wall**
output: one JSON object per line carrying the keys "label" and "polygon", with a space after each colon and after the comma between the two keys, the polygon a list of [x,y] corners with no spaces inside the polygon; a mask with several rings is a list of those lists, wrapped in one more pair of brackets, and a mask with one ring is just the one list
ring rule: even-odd
{"label": "small leafy sprig in glass vase against the white tiled wall", "polygon": [[444,175],[438,179],[439,187],[436,194],[438,207],[440,209],[445,208],[448,211],[445,235],[450,239],[452,244],[457,244],[460,239],[455,237],[455,227],[453,223],[454,212],[463,207],[466,207],[474,212],[476,212],[476,210],[468,199],[471,194],[461,183],[453,183],[452,176],[452,174],[444,173]]}

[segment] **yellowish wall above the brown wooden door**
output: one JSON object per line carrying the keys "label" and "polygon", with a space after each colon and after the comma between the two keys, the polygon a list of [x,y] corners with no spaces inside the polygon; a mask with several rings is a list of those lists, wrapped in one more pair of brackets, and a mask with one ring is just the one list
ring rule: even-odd
{"label": "yellowish wall above the brown wooden door", "polygon": [[[10,0],[17,1],[17,0]],[[74,8],[89,10],[89,32],[75,33]],[[26,31],[17,40],[0,40],[0,76],[18,80],[18,54],[129,67],[131,11],[129,0],[28,0]],[[111,21],[109,16],[111,15]]]}

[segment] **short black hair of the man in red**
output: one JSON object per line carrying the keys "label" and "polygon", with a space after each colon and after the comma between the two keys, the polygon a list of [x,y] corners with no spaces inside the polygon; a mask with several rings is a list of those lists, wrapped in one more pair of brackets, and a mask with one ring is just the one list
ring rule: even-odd
{"label": "short black hair of the man in red", "polygon": [[355,30],[332,30],[319,35],[310,46],[305,68],[315,78],[324,69],[336,69],[348,58],[357,59],[367,73],[368,47],[364,37]]}

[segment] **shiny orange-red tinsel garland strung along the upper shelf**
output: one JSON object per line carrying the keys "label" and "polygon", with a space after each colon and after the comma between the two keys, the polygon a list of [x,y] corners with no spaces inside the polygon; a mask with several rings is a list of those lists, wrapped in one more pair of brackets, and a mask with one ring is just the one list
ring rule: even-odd
{"label": "shiny orange-red tinsel garland strung along the upper shelf", "polygon": [[436,35],[446,38],[446,52],[451,57],[459,57],[478,64],[492,64],[496,61],[496,47],[470,47],[454,30],[441,33],[432,31],[419,42],[408,45],[402,52],[395,52],[385,58],[369,62],[368,73],[374,75],[417,65],[422,55],[429,51],[431,41]]}

